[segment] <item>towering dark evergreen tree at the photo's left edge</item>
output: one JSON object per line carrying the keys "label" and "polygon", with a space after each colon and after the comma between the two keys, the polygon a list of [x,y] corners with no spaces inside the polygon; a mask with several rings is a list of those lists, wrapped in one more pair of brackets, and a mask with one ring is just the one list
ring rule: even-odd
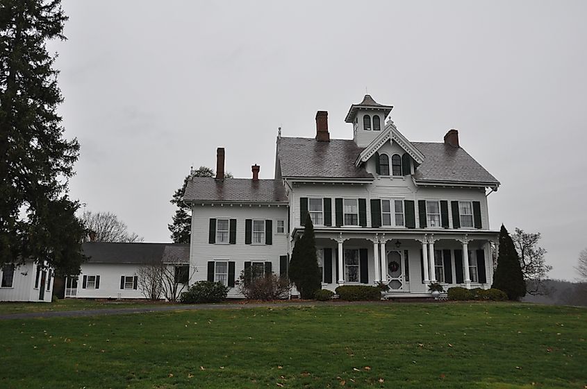
{"label": "towering dark evergreen tree at the photo's left edge", "polygon": [[47,42],[65,40],[60,0],[0,6],[0,265],[33,259],[78,273],[85,231],[67,197],[79,144],[64,139]]}

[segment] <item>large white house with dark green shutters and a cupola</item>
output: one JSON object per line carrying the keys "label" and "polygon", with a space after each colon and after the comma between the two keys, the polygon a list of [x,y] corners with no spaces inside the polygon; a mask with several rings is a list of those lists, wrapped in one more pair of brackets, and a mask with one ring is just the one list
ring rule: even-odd
{"label": "large white house with dark green shutters and a cupola", "polygon": [[[487,196],[499,182],[449,130],[443,142],[412,142],[371,96],[351,105],[352,139],[330,139],[328,113],[315,137],[276,141],[273,180],[192,177],[190,282],[220,281],[240,297],[238,277],[287,274],[306,216],[315,226],[322,286],[388,284],[389,297],[429,295],[427,285],[489,288],[493,281]],[[281,131],[280,131],[281,132]]]}

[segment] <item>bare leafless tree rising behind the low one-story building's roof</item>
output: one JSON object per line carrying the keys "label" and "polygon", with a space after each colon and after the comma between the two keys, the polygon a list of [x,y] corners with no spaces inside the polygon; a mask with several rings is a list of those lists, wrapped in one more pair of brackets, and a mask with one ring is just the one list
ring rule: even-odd
{"label": "bare leafless tree rising behind the low one-story building's roof", "polygon": [[126,223],[119,221],[112,212],[83,212],[81,216],[85,228],[94,233],[97,242],[142,242],[143,238],[134,232],[129,232]]}

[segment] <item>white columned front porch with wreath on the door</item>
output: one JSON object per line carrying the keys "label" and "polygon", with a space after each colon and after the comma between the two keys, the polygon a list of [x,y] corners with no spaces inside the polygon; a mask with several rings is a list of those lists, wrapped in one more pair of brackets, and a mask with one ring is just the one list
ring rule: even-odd
{"label": "white columned front porch with wreath on the door", "polygon": [[317,229],[322,288],[386,284],[384,297],[429,297],[432,282],[490,288],[495,232],[332,232]]}

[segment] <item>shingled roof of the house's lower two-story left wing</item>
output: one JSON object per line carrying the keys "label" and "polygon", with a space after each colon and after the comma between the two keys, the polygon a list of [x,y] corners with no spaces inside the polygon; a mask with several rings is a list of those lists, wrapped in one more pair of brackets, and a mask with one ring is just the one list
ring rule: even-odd
{"label": "shingled roof of the house's lower two-story left wing", "polygon": [[286,191],[279,180],[258,180],[250,178],[194,177],[188,181],[183,200],[226,201],[226,202],[287,202]]}

